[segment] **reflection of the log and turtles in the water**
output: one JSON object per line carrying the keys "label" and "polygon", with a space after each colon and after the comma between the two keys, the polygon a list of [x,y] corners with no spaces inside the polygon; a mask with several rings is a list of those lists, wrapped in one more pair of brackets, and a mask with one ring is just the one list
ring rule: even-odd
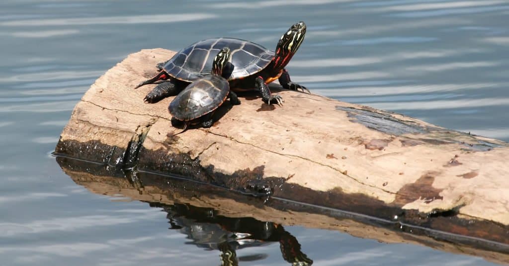
{"label": "reflection of the log and turtles in the water", "polygon": [[[313,259],[301,250],[297,238],[285,230],[285,226],[291,225],[336,230],[385,243],[412,243],[509,263],[509,245],[430,229],[433,225],[427,227],[426,224],[419,226],[415,225],[418,223],[389,221],[277,197],[264,201],[184,178],[119,169],[69,157],[57,156],[56,161],[76,184],[93,193],[121,194],[147,202],[151,207],[162,208],[167,212],[169,229],[186,234],[191,240],[187,244],[220,251],[222,265],[262,260],[266,254],[237,257],[236,251],[271,242],[279,243],[282,258],[288,263],[311,265]],[[448,219],[454,214],[437,213],[435,216]],[[419,217],[413,219],[419,220]],[[453,226],[460,231],[468,230],[468,225]],[[490,231],[489,228],[486,230]]]}

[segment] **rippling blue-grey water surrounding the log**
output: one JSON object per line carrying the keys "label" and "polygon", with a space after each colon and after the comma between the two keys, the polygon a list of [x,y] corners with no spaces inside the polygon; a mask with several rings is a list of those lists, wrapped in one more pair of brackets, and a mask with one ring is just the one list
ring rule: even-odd
{"label": "rippling blue-grey water surrounding the log", "polygon": [[[313,93],[509,141],[509,3],[501,1],[3,0],[0,3],[1,265],[219,264],[186,245],[166,212],[77,185],[50,156],[74,105],[107,69],[144,48],[211,37],[274,48],[294,22],[288,66]],[[113,196],[112,196],[113,195]],[[479,257],[286,227],[316,265],[489,265]],[[285,265],[277,243],[241,265]]]}

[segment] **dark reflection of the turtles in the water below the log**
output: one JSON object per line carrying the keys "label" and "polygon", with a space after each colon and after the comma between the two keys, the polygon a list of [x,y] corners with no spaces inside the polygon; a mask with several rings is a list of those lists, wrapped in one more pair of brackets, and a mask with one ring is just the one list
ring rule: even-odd
{"label": "dark reflection of the turtles in the water below the log", "polygon": [[237,249],[259,247],[270,242],[279,242],[283,259],[295,266],[312,265],[313,260],[300,250],[300,244],[281,225],[262,222],[254,218],[230,218],[216,215],[212,208],[195,207],[176,203],[162,207],[171,224],[170,229],[179,229],[188,235],[192,244],[206,249],[221,251],[221,265],[238,265],[239,260],[263,259],[263,254],[237,258]]}

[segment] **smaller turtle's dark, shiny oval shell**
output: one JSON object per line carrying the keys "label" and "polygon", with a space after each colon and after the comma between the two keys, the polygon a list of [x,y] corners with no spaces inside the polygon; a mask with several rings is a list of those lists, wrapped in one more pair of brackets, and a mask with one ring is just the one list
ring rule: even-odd
{"label": "smaller turtle's dark, shiny oval shell", "polygon": [[169,103],[168,110],[176,119],[190,121],[216,110],[229,92],[225,78],[209,74],[189,84]]}

